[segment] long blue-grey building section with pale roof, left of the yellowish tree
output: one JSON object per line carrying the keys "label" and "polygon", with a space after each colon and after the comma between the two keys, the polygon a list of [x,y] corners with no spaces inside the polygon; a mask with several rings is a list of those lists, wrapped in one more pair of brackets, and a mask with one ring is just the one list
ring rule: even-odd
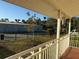
{"label": "long blue-grey building section with pale roof, left of the yellowish tree", "polygon": [[1,33],[27,32],[28,25],[22,23],[0,22]]}

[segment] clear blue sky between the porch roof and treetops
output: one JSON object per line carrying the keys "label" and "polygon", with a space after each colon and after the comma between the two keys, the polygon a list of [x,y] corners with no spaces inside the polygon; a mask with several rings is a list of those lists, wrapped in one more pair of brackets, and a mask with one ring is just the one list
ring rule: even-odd
{"label": "clear blue sky between the porch roof and treetops", "polygon": [[44,15],[38,14],[31,10],[4,2],[0,0],[0,19],[8,18],[10,21],[14,21],[14,19],[25,19],[27,20],[29,17],[27,16],[27,12],[30,12],[31,15],[36,14],[37,17],[43,19]]}

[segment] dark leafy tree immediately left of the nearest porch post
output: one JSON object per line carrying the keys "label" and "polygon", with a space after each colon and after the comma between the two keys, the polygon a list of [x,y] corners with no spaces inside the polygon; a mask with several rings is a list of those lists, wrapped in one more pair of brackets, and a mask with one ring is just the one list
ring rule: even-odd
{"label": "dark leafy tree immediately left of the nearest porch post", "polygon": [[49,32],[50,36],[56,33],[56,26],[57,20],[54,18],[48,18],[46,22],[47,31]]}

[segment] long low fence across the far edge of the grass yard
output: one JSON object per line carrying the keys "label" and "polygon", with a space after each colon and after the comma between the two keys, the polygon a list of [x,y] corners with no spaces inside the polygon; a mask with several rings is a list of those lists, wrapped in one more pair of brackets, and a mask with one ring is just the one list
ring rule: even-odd
{"label": "long low fence across the far edge of the grass yard", "polygon": [[[18,39],[39,39],[41,37],[48,37],[48,39],[52,39],[49,33],[24,33],[24,34],[18,34],[18,33],[13,33],[13,34],[6,34],[6,33],[0,33],[0,40],[18,40]],[[55,35],[54,35],[55,38]]]}

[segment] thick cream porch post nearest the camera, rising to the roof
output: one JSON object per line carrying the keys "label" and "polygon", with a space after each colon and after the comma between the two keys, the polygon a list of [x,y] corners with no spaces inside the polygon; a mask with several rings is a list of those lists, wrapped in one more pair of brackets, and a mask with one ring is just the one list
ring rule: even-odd
{"label": "thick cream porch post nearest the camera, rising to the roof", "polygon": [[57,44],[56,44],[56,59],[59,58],[59,38],[60,38],[60,26],[61,26],[61,19],[60,19],[60,10],[58,10],[58,19],[57,19]]}

